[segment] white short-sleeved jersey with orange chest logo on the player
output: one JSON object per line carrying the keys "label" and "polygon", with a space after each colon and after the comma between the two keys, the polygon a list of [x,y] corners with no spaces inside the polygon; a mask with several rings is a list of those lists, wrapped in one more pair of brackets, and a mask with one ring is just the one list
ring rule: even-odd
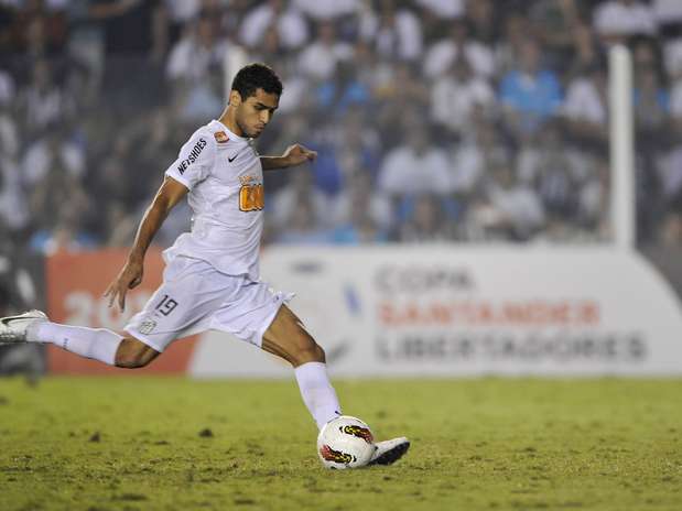
{"label": "white short-sleeved jersey with orange chest logo on the player", "polygon": [[228,275],[258,280],[263,229],[263,171],[251,139],[217,120],[196,130],[165,175],[185,185],[192,231],[163,252],[199,259]]}

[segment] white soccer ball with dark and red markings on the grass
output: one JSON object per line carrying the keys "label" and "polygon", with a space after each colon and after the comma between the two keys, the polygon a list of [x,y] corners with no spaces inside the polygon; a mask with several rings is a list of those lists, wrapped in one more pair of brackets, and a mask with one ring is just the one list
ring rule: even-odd
{"label": "white soccer ball with dark and red markings on the grass", "polygon": [[317,455],[326,468],[364,467],[376,449],[369,426],[349,415],[329,421],[317,436]]}

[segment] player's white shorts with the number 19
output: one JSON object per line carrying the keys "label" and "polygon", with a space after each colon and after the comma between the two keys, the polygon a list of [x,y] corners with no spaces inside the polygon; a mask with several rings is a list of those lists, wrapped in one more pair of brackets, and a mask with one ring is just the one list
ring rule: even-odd
{"label": "player's white shorts with the number 19", "polygon": [[248,275],[227,275],[199,259],[176,257],[163,271],[161,287],[125,330],[159,352],[177,338],[206,330],[227,331],[260,347],[292,296]]}

